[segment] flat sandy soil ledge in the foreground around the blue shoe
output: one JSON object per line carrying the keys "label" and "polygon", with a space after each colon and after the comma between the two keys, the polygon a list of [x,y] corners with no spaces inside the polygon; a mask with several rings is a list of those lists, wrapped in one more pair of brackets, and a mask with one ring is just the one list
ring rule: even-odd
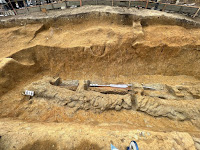
{"label": "flat sandy soil ledge in the foreground around the blue shoe", "polygon": [[[110,143],[125,149],[133,138],[140,149],[195,150],[184,132],[154,132],[126,125],[84,125],[77,123],[26,123],[1,119],[0,133],[6,149],[110,149]],[[181,137],[181,140],[180,140]],[[183,145],[184,144],[184,145]],[[4,146],[3,145],[3,146]],[[1,145],[2,146],[2,145]]]}

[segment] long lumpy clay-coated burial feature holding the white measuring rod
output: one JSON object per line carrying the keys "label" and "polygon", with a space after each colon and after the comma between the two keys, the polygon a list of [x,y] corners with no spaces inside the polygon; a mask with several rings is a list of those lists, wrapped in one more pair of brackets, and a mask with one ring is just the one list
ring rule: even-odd
{"label": "long lumpy clay-coated burial feature holding the white measuring rod", "polygon": [[100,113],[126,109],[180,121],[199,119],[199,83],[176,86],[133,83],[118,86],[44,77],[25,87],[24,91],[34,91],[36,100],[45,99],[74,111],[92,110]]}

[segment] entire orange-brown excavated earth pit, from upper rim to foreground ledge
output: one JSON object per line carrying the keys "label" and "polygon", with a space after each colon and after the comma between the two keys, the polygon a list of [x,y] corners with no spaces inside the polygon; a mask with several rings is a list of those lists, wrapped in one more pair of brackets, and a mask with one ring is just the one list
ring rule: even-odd
{"label": "entire orange-brown excavated earth pit, from upper rim to foreground ledge", "polygon": [[94,8],[1,20],[0,150],[200,149],[199,23]]}

